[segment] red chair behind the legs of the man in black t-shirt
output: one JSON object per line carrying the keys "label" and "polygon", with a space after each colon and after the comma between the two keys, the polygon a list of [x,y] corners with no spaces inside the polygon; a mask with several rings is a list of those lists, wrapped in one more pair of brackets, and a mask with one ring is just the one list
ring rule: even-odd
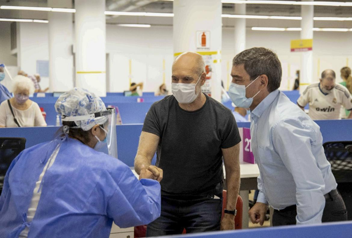
{"label": "red chair behind the legs of the man in black t-shirt", "polygon": [[[227,199],[227,192],[226,190],[222,191],[222,214],[221,219],[224,217],[224,209],[226,208],[226,199]],[[238,195],[237,203],[236,203],[236,210],[237,215],[235,216],[235,229],[242,229],[242,216],[243,216],[243,201],[240,195]],[[147,225],[143,226],[135,226],[134,227],[134,238],[137,237],[145,237],[145,233],[147,231]],[[186,233],[184,229],[183,234]]]}

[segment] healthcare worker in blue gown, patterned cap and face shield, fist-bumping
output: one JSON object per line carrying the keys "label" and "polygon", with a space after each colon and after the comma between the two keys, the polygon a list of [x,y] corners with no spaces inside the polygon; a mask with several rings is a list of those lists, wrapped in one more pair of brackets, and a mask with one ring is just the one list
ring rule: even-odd
{"label": "healthcare worker in blue gown, patterned cap and face shield, fist-bumping", "polygon": [[138,180],[124,163],[97,151],[111,144],[105,141],[115,135],[115,113],[80,88],[61,95],[55,108],[62,135],[25,149],[7,171],[0,237],[109,237],[113,221],[131,227],[158,218],[160,184],[152,173],[144,169]]}

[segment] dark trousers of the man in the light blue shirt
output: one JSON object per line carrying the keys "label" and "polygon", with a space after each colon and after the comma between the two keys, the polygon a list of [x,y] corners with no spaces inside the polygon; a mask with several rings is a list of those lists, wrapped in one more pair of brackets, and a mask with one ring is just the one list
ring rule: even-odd
{"label": "dark trousers of the man in the light blue shirt", "polygon": [[[346,221],[347,210],[340,193],[334,190],[325,195],[325,207],[322,222]],[[282,210],[274,210],[272,214],[273,226],[296,225],[297,208],[296,205],[286,207]]]}

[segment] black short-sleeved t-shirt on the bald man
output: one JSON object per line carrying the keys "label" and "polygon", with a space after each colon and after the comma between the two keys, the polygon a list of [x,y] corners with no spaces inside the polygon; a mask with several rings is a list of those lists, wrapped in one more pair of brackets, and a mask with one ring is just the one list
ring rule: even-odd
{"label": "black short-sleeved t-shirt on the bald man", "polygon": [[156,166],[163,169],[162,194],[200,194],[223,179],[221,148],[241,141],[230,109],[206,95],[196,111],[166,96],[149,109],[143,131],[160,137]]}

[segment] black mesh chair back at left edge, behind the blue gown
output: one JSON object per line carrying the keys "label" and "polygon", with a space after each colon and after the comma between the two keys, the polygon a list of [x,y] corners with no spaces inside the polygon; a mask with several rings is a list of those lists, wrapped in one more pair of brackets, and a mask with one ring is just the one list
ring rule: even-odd
{"label": "black mesh chair back at left edge, behind the blue gown", "polygon": [[25,146],[25,138],[0,137],[0,194],[8,167],[12,160],[25,149]]}

